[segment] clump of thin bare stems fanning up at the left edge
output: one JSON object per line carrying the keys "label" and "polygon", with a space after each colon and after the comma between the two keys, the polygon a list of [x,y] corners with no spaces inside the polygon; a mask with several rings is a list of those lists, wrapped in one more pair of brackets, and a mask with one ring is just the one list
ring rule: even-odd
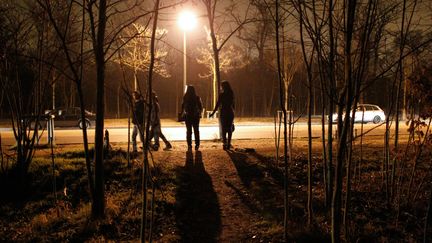
{"label": "clump of thin bare stems fanning up at the left edge", "polygon": [[48,102],[44,97],[50,83],[44,76],[52,74],[58,49],[46,41],[47,26],[40,9],[22,13],[22,8],[9,1],[1,8],[0,85],[16,139],[14,177],[24,189]]}

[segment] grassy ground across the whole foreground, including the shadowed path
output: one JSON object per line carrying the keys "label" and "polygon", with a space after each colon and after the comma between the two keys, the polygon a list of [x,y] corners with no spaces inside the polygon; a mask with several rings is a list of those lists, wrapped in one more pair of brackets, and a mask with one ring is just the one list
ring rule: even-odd
{"label": "grassy ground across the whole foreground, including the shadowed path", "polygon": [[[234,149],[204,142],[187,152],[152,152],[155,181],[153,240],[156,242],[282,242],[282,162],[273,140],[238,140]],[[328,242],[322,159],[314,149],[314,224],[306,225],[306,140],[295,141],[289,176],[289,237],[293,242]],[[90,203],[81,147],[55,148],[55,189],[50,151],[37,152],[28,187],[0,178],[0,241],[138,241],[141,224],[141,159],[128,166],[125,144],[113,144],[105,162],[106,219],[89,220]],[[358,144],[354,147],[360,149]],[[353,180],[349,242],[421,240],[426,193],[419,181],[416,200],[390,207],[383,191],[382,147],[365,143],[361,174]],[[355,161],[359,161],[358,158]],[[421,165],[423,167],[424,165]],[[428,175],[418,174],[418,178]],[[428,181],[429,177],[425,180]],[[54,193],[55,191],[55,193]],[[398,213],[399,212],[399,213]]]}

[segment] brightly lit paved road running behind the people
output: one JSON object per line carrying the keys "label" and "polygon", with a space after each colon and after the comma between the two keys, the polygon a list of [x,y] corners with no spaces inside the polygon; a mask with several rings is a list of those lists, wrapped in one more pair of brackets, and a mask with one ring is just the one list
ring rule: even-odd
{"label": "brightly lit paved road running behind the people", "polygon": [[[400,131],[402,135],[407,134],[406,126],[400,123]],[[364,132],[368,137],[380,138],[384,135],[385,125],[364,124]],[[360,135],[361,125],[356,124],[356,134]],[[128,130],[125,127],[111,127],[108,128],[110,134],[110,142],[127,142]],[[164,126],[162,124],[162,131],[170,141],[185,140],[186,128],[184,126]],[[281,134],[283,127],[281,127]],[[15,138],[11,129],[1,129],[1,139],[3,145],[13,145]],[[218,127],[216,124],[207,124],[200,127],[201,140],[218,139]],[[88,130],[89,141],[94,141],[94,129]],[[321,126],[314,124],[312,129],[312,137],[319,138],[321,136]],[[275,125],[270,122],[262,123],[237,123],[236,129],[233,134],[233,139],[260,139],[260,138],[274,138]],[[294,126],[295,138],[307,137],[307,124],[299,123]],[[41,142],[47,141],[47,132],[43,132]],[[55,130],[55,141],[57,144],[79,144],[82,143],[82,131],[79,129],[57,129]]]}

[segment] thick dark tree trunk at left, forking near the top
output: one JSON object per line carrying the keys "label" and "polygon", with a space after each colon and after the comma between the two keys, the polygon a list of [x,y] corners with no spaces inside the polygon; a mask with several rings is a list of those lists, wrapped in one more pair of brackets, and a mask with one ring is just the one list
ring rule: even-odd
{"label": "thick dark tree trunk at left, forking near the top", "polygon": [[[105,65],[115,56],[118,49],[113,48],[122,31],[135,21],[147,16],[150,11],[141,9],[142,1],[120,2],[88,0],[84,7],[90,20],[90,40],[96,65],[96,128],[94,157],[94,197],[92,216],[103,218],[105,215],[104,178],[103,178],[103,136],[105,114]],[[137,9],[141,13],[135,13]],[[116,18],[117,21],[110,21]],[[109,24],[109,25],[108,25]]]}

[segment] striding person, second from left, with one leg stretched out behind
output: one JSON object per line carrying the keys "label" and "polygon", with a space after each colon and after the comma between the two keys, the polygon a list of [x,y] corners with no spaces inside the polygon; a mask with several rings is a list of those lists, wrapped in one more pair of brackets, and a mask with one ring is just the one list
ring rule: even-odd
{"label": "striding person, second from left, with one leg stretched out behind", "polygon": [[165,135],[163,135],[161,130],[161,123],[160,123],[160,106],[159,106],[159,100],[157,98],[156,92],[152,92],[152,111],[151,111],[151,117],[150,117],[150,139],[154,139],[154,144],[152,146],[153,150],[158,151],[159,150],[159,138],[162,138],[162,141],[165,143],[164,150],[170,150],[172,148],[171,143],[165,138]]}

